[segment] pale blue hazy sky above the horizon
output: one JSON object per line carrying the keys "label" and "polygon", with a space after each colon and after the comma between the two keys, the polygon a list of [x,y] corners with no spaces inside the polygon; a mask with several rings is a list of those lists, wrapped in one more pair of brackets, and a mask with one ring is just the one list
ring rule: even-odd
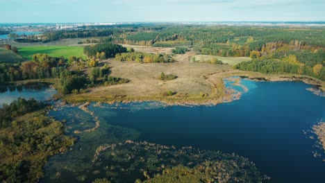
{"label": "pale blue hazy sky above the horizon", "polygon": [[324,0],[0,0],[0,23],[325,21]]}

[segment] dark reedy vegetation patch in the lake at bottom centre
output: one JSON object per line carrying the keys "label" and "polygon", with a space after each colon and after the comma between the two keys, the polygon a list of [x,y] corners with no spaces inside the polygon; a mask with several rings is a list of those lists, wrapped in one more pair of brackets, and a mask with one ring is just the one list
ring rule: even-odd
{"label": "dark reedy vegetation patch in the lake at bottom centre", "polygon": [[[117,173],[116,177],[108,176],[110,180],[116,182],[134,182],[135,179],[132,180],[132,177],[137,175],[142,180],[156,177],[148,182],[161,182],[164,179],[161,179],[158,173],[165,175],[163,176],[165,182],[170,182],[172,179],[169,178],[173,177],[171,172],[179,167],[194,171],[195,178],[206,177],[206,181],[203,182],[262,182],[268,179],[258,171],[255,164],[244,157],[219,151],[199,150],[191,146],[175,148],[147,141],[129,140],[125,143],[108,145],[99,154],[93,160],[94,164],[101,161],[105,164],[118,165],[106,170],[106,175],[110,175],[110,172]],[[105,169],[103,168],[103,171]],[[185,179],[192,178],[183,173],[178,175],[183,175]]]}

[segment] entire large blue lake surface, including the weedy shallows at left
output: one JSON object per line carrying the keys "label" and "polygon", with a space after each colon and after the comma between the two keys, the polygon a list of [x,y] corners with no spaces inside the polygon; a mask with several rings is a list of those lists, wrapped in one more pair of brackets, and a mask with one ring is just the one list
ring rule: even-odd
{"label": "entire large blue lake surface, including the weedy shallows at left", "polygon": [[[90,161],[94,155],[89,152],[110,141],[110,134],[122,135],[110,125],[128,129],[125,139],[236,153],[254,162],[271,182],[325,182],[324,152],[310,132],[315,123],[325,119],[325,98],[307,91],[310,85],[302,82],[243,83],[249,91],[240,100],[212,107],[157,103],[94,107],[93,103],[88,108],[99,116],[100,128],[96,134],[79,135],[73,150],[51,157],[42,182],[76,181],[71,173],[64,172],[63,179],[53,179],[53,173],[73,164],[74,168],[88,167],[81,174],[93,177]],[[67,133],[71,135],[73,130],[94,126],[90,114],[78,107],[62,107],[51,111],[50,116],[67,119]],[[313,152],[321,157],[313,157]]]}

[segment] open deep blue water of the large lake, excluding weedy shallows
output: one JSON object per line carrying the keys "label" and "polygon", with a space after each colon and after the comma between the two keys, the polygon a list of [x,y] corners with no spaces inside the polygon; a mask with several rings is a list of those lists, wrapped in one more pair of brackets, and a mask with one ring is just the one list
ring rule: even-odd
{"label": "open deep blue water of the large lake, excluding weedy shallows", "polygon": [[325,119],[325,98],[302,82],[255,82],[239,101],[206,107],[116,110],[108,123],[135,128],[140,140],[222,150],[248,157],[272,182],[325,182],[324,152],[303,130]]}

